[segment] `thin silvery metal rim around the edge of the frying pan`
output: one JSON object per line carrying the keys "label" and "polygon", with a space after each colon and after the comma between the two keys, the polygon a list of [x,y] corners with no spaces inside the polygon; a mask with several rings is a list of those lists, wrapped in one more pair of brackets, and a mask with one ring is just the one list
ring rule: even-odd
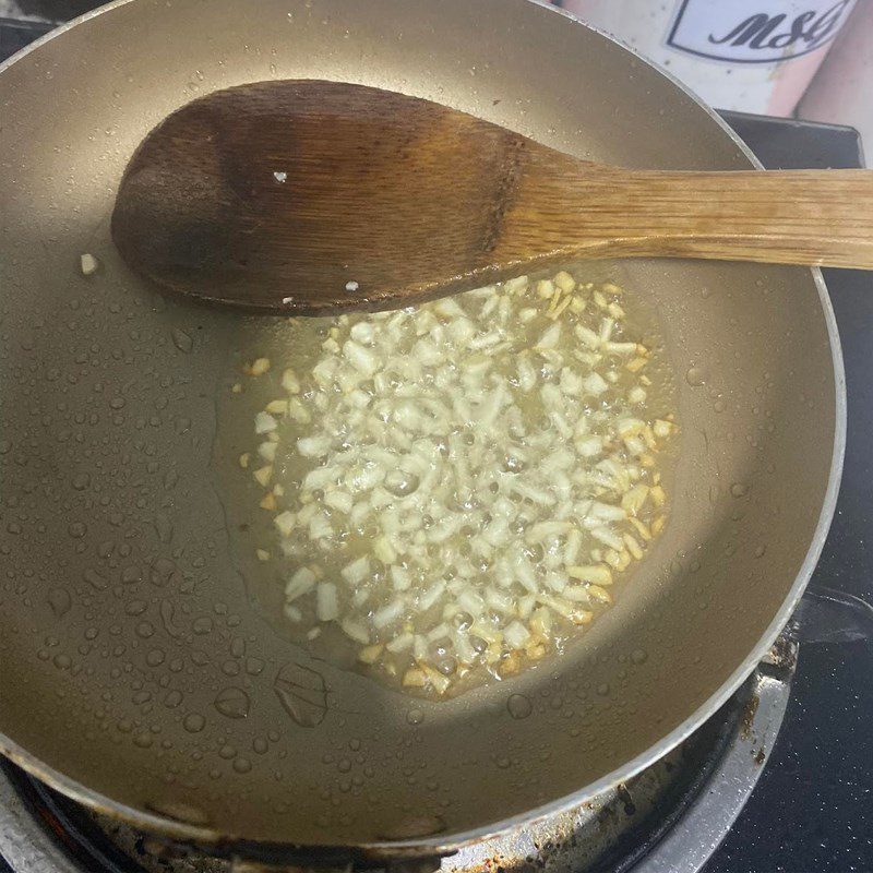
{"label": "thin silvery metal rim around the edge of the frying pan", "polygon": [[[91,21],[92,19],[95,19],[105,12],[111,12],[135,1],[136,0],[112,0],[112,2],[71,19],[69,22],[56,27],[29,45],[25,46],[5,61],[0,62],[0,74],[2,74],[13,63],[23,59],[32,51],[35,51],[56,37],[61,36],[72,27]],[[646,67],[655,70],[668,82],[670,82],[677,89],[693,100],[697,107],[702,109],[709,117],[709,119],[720,128],[720,130],[733,142],[742,155],[749,160],[752,168],[758,170],[764,169],[757,157],[752,153],[743,140],[741,140],[740,136],[728,125],[728,123],[720,116],[718,116],[718,113],[711,107],[709,107],[708,104],[699,98],[686,85],[680,82],[671,72],[654,64],[627,43],[618,39],[617,37],[598,27],[581,21],[577,16],[573,15],[566,10],[552,5],[548,0],[525,0],[525,2],[539,7],[551,13],[562,15],[571,23],[593,31],[602,38],[619,45],[625,51],[630,52],[637,63],[645,64]],[[721,705],[728,701],[728,698],[753,672],[755,667],[762,661],[773,644],[776,642],[779,633],[788,623],[791,614],[794,611],[794,608],[803,595],[804,589],[806,588],[806,585],[810,582],[810,578],[812,577],[824,548],[832,519],[834,517],[842,475],[847,430],[846,373],[842,350],[836,316],[830,303],[830,297],[828,295],[827,287],[822,276],[822,271],[818,267],[811,267],[810,272],[812,274],[813,283],[818,295],[822,313],[825,320],[825,327],[827,330],[828,344],[830,347],[832,364],[834,369],[835,419],[830,468],[828,471],[827,487],[825,489],[815,531],[812,536],[809,549],[806,550],[806,554],[803,559],[800,570],[798,571],[794,582],[792,583],[788,595],[782,601],[782,605],[750,654],[743,659],[737,669],[733,670],[733,672],[714,694],[711,694],[701,706],[697,707],[694,713],[692,713],[666,737],[663,737],[657,743],[650,745],[641,754],[636,755],[630,762],[626,762],[622,766],[617,767],[596,781],[589,782],[574,792],[565,794],[548,803],[543,803],[525,813],[519,813],[499,822],[493,822],[491,824],[481,825],[479,827],[461,832],[453,835],[451,840],[441,839],[439,835],[434,835],[433,837],[422,837],[407,840],[354,842],[345,845],[346,849],[350,851],[357,851],[361,854],[374,856],[393,854],[411,857],[419,854],[449,854],[473,842],[489,839],[498,835],[505,834],[521,825],[529,824],[531,822],[565,812],[574,806],[577,806],[585,800],[613,788],[619,782],[630,779],[655,761],[661,758],[682,741],[684,741],[689,736],[691,736],[704,721],[706,721],[718,708],[720,708]],[[15,743],[13,740],[11,740],[11,738],[7,737],[2,732],[0,732],[0,752],[2,752],[2,754],[5,755],[10,761],[22,767],[25,772],[48,785],[50,788],[58,790],[64,796],[79,803],[82,803],[85,806],[88,806],[92,810],[119,817],[135,827],[153,830],[182,842],[212,846],[214,848],[220,847],[223,851],[227,852],[231,852],[235,850],[235,848],[242,848],[243,846],[250,850],[256,847],[261,851],[270,851],[271,849],[274,849],[279,851],[285,850],[286,852],[294,852],[294,849],[297,848],[300,852],[306,853],[308,858],[312,858],[312,856],[318,853],[320,850],[322,850],[325,854],[333,856],[336,853],[336,850],[340,848],[339,845],[334,844],[308,844],[306,846],[297,847],[294,844],[285,842],[276,844],[259,841],[253,844],[252,841],[246,840],[240,836],[224,834],[210,827],[184,824],[163,815],[139,810],[112,800],[111,798],[98,791],[94,791],[93,789],[84,786],[82,782],[79,782],[77,780],[60,773],[59,770],[47,766],[35,755],[29,753],[20,744]]]}

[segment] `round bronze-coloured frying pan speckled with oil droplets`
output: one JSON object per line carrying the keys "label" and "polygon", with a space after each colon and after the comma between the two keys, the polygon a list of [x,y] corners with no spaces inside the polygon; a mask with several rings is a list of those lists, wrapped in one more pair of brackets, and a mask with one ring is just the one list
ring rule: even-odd
{"label": "round bronze-coloured frying pan speckled with oil droplets", "polygon": [[268,620],[231,549],[226,506],[251,497],[228,458],[251,424],[224,398],[277,323],[165,301],[109,237],[137,143],[211,89],[361,82],[593,160],[754,164],[680,85],[527,0],[121,0],[1,69],[7,755],[178,839],[433,853],[626,779],[762,658],[818,557],[842,457],[817,271],[596,267],[662,321],[682,423],[670,523],[565,655],[438,703],[315,660]]}

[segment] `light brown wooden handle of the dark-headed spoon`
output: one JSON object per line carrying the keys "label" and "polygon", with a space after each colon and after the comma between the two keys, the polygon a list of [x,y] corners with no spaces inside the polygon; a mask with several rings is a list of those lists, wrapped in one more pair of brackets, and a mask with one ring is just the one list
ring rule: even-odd
{"label": "light brown wooden handle of the dark-headed spoon", "polygon": [[873,268],[869,170],[591,172],[569,157],[531,170],[504,236],[523,250],[530,228],[541,248],[527,256],[562,250]]}

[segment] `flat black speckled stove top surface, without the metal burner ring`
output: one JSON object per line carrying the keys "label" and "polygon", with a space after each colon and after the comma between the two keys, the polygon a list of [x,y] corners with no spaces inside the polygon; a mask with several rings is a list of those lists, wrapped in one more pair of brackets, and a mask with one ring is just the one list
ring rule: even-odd
{"label": "flat black speckled stove top surface, without the metal burner ring", "polygon": [[[0,0],[0,14],[3,8]],[[51,26],[0,17],[0,61]],[[768,168],[862,166],[859,136],[849,128],[722,115]],[[824,275],[842,342],[849,418],[842,486],[814,582],[871,601],[873,274],[826,270]],[[705,871],[873,872],[869,643],[801,646],[776,746],[755,792]]]}

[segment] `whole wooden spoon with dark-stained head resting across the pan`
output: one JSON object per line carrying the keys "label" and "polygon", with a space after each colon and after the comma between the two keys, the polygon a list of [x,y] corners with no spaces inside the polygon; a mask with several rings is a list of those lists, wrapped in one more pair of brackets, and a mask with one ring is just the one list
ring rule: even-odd
{"label": "whole wooden spoon with dark-stained head resting across the pan", "polygon": [[873,172],[626,170],[402,94],[262,82],[194,100],[146,136],[112,236],[169,291],[326,314],[579,258],[873,268]]}

